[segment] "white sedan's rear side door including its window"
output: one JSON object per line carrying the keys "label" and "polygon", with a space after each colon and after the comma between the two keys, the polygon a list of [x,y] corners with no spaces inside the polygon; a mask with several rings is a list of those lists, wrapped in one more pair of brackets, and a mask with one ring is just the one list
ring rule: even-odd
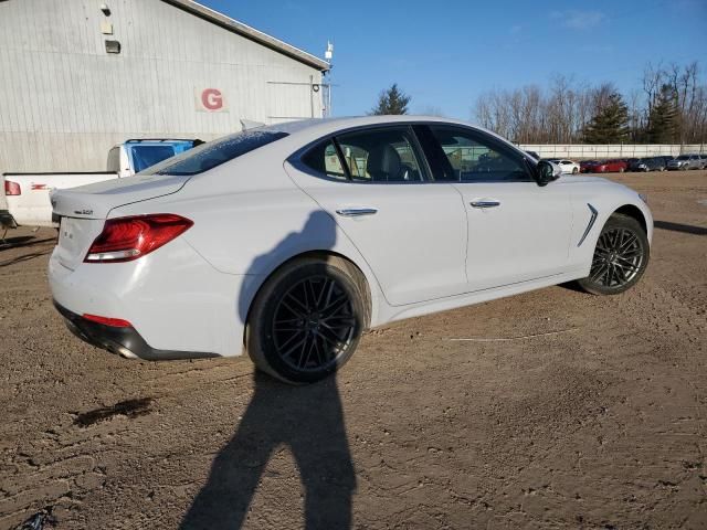
{"label": "white sedan's rear side door including its window", "polygon": [[286,165],[337,222],[392,305],[466,289],[466,214],[458,191],[432,183],[412,129],[365,128],[325,139]]}

